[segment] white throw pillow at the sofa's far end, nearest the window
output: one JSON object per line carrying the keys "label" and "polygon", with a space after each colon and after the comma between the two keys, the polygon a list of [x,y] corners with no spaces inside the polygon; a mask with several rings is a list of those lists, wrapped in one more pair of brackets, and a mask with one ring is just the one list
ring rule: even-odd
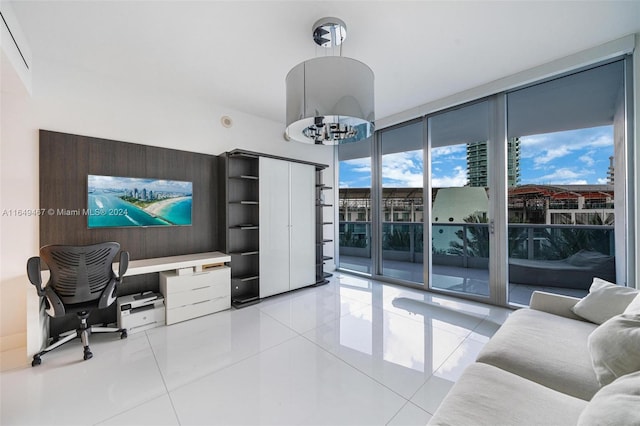
{"label": "white throw pillow at the sofa's far end, nearest the window", "polygon": [[596,324],[621,314],[636,298],[639,291],[594,278],[589,294],[575,304],[574,314]]}

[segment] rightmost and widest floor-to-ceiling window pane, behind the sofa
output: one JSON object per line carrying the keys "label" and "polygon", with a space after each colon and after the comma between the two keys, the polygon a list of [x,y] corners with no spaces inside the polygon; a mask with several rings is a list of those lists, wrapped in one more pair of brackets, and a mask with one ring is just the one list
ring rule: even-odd
{"label": "rightmost and widest floor-to-ceiling window pane, behind the sofa", "polygon": [[615,238],[624,223],[623,70],[618,61],[507,94],[520,170],[508,188],[510,303],[526,305],[539,289],[581,297],[594,276],[616,281],[625,262]]}

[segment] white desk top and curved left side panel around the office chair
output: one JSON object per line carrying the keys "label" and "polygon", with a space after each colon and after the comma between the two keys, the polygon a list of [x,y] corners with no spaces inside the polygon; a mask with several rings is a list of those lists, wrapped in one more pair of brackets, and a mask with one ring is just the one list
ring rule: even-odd
{"label": "white desk top and curved left side panel around the office chair", "polygon": [[[182,268],[196,268],[202,270],[207,265],[218,265],[231,262],[231,256],[219,251],[207,253],[185,254],[180,256],[157,257],[151,259],[138,259],[129,262],[129,267],[124,276],[151,274],[154,272],[173,271]],[[115,271],[118,263],[113,264]],[[49,280],[49,271],[42,271],[42,282]],[[231,285],[231,284],[229,284]],[[27,288],[27,356],[40,351],[42,345],[49,336],[48,317],[41,305],[40,297],[35,288],[29,284]]]}

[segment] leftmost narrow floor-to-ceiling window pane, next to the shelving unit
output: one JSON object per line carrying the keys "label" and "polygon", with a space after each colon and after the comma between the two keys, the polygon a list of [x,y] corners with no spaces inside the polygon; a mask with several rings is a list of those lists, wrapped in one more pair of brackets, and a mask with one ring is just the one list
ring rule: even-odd
{"label": "leftmost narrow floor-to-ceiling window pane, next to the shelving unit", "polygon": [[338,266],[373,274],[371,142],[337,146],[339,165]]}

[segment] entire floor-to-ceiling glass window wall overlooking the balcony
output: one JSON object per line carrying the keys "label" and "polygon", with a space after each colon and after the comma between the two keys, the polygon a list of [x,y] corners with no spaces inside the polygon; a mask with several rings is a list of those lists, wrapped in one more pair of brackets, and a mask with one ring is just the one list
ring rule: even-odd
{"label": "entire floor-to-ceiling glass window wall overlooking the balcony", "polygon": [[583,295],[594,276],[627,284],[630,68],[565,73],[339,146],[339,267],[514,305]]}

